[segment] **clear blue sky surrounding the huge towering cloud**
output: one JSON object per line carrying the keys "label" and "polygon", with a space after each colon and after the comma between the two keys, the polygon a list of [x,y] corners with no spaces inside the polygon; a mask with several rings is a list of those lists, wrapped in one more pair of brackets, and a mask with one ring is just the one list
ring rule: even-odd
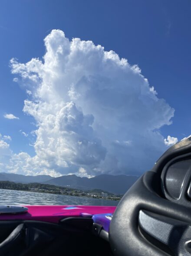
{"label": "clear blue sky surrounding the huge towering cloud", "polygon": [[[44,38],[53,29],[72,40],[92,40],[138,64],[158,98],[175,109],[161,135],[178,140],[191,134],[191,2],[189,0],[8,0],[0,7],[0,133],[10,135],[11,150],[36,155],[34,117],[23,113],[26,89],[13,82],[10,59],[26,63],[42,59]],[[4,118],[12,113],[20,119]]]}

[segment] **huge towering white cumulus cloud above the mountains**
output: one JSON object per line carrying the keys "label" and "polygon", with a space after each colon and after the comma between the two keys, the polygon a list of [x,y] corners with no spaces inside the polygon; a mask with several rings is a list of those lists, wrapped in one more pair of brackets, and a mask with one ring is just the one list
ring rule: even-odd
{"label": "huge towering white cumulus cloud above the mountains", "polygon": [[69,41],[61,30],[45,46],[43,61],[10,61],[32,93],[23,111],[37,128],[36,156],[13,155],[8,168],[86,176],[151,168],[165,151],[159,129],[171,124],[174,109],[157,98],[140,68],[92,41]]}

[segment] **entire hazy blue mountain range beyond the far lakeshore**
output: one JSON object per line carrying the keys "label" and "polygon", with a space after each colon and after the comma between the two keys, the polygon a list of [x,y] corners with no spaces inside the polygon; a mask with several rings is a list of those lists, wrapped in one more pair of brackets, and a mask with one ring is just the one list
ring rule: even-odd
{"label": "entire hazy blue mountain range beyond the far lakeshore", "polygon": [[53,178],[49,175],[19,175],[14,173],[0,173],[0,181],[12,181],[21,183],[38,182],[57,186],[69,186],[74,189],[102,189],[115,194],[124,194],[132,184],[138,179],[138,176],[127,175],[98,175],[93,178],[78,177],[76,175],[64,175]]}

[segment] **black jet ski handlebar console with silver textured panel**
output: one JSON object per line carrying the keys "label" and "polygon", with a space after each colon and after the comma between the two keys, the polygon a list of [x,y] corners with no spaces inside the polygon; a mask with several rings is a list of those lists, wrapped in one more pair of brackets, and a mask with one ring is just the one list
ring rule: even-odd
{"label": "black jet ski handlebar console with silver textured panel", "polygon": [[191,255],[191,137],[125,193],[109,228],[117,256]]}

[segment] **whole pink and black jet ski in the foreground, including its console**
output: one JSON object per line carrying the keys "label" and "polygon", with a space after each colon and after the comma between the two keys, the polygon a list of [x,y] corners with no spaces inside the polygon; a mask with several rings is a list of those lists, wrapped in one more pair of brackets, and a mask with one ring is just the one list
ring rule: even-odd
{"label": "whole pink and black jet ski in the foreground, including its console", "polygon": [[0,206],[0,256],[190,256],[191,137],[169,148],[117,207]]}

